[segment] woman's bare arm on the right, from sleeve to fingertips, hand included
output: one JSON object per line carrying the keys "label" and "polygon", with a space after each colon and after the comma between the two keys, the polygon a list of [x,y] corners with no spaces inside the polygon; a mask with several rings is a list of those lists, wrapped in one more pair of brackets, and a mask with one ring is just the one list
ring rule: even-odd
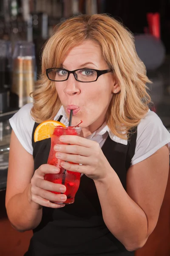
{"label": "woman's bare arm on the right, from sleeve to fingertips, hand included", "polygon": [[63,168],[94,180],[103,219],[111,233],[127,250],[142,247],[156,226],[164,198],[169,171],[167,145],[129,168],[126,192],[98,143],[69,135],[60,140],[71,145],[55,145],[56,157],[63,160]]}

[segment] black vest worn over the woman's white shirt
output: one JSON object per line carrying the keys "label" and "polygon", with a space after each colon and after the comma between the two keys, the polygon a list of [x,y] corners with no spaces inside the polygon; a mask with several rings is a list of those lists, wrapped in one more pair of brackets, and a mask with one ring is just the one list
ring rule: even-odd
{"label": "black vest worn over the woman's white shirt", "polygon": [[[51,139],[34,143],[34,170],[47,163]],[[137,130],[137,129],[136,129]],[[137,131],[127,145],[108,136],[102,151],[126,189],[126,173],[135,153]],[[114,198],[113,198],[114,200]],[[106,227],[94,181],[82,175],[74,204],[61,209],[42,208],[42,221],[33,230],[25,256],[132,256]]]}

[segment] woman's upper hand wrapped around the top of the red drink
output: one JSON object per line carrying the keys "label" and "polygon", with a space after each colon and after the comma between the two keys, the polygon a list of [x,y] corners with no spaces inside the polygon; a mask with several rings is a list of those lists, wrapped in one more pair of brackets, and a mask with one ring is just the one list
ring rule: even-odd
{"label": "woman's upper hand wrapped around the top of the red drink", "polygon": [[[61,166],[64,169],[84,173],[93,180],[102,180],[108,176],[112,168],[99,143],[74,135],[61,136],[59,140],[71,144],[54,146],[54,150],[57,151],[56,157],[63,160]],[[82,165],[66,163],[65,161]]]}

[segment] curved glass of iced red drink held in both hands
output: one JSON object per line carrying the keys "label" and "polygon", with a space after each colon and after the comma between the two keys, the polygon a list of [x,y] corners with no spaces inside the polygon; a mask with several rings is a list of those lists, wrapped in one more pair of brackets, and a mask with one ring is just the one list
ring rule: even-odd
{"label": "curved glass of iced red drink held in both hands", "polygon": [[61,202],[53,202],[56,204],[73,204],[76,192],[79,188],[80,183],[80,175],[79,172],[71,172],[65,170],[60,166],[62,160],[56,158],[55,154],[57,151],[54,151],[54,145],[56,144],[66,144],[59,141],[59,137],[61,135],[80,135],[81,127],[58,127],[58,126],[51,126],[50,127],[50,134],[51,134],[51,149],[48,156],[48,164],[53,166],[57,166],[60,168],[60,172],[58,174],[46,174],[45,180],[51,181],[53,183],[63,184],[66,186],[66,191],[64,193],[54,192],[54,194],[64,194],[67,196],[67,200],[63,203]]}

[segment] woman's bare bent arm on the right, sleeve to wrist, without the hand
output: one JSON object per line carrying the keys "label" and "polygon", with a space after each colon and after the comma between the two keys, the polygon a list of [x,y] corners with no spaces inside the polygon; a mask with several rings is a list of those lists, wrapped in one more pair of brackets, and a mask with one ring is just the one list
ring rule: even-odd
{"label": "woman's bare bent arm on the right, sleeve to wrist, without the hand", "polygon": [[115,172],[95,181],[105,224],[127,250],[142,247],[156,227],[168,171],[169,150],[165,145],[129,168],[127,192]]}

